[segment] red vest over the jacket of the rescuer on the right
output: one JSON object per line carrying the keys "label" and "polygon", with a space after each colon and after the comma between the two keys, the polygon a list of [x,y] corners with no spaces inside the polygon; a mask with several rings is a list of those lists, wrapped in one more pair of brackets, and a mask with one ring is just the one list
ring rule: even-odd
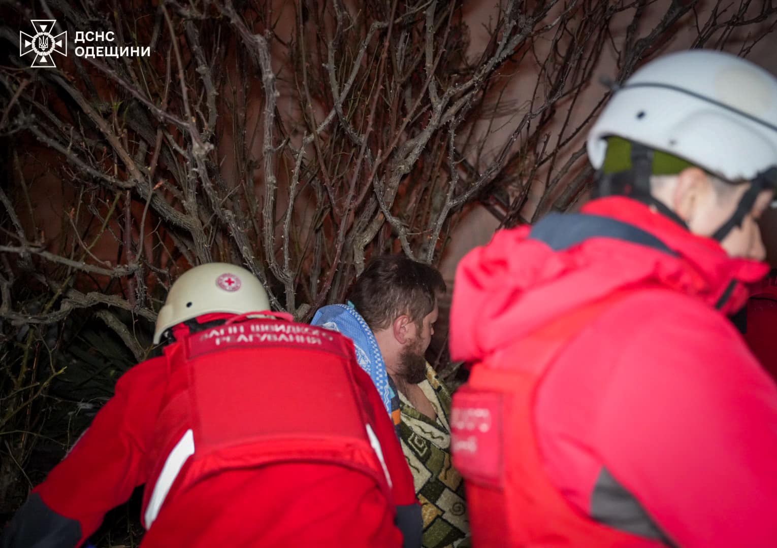
{"label": "red vest over the jacket of the rescuer on the right", "polygon": [[563,345],[629,293],[566,314],[475,364],[454,395],[451,449],[466,482],[474,546],[664,546],[577,512],[543,469],[533,423],[536,391]]}

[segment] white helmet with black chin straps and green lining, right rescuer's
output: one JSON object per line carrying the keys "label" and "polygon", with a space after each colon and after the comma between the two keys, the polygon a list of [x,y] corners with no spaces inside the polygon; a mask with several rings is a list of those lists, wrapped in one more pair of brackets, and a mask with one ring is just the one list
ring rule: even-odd
{"label": "white helmet with black chin straps and green lining, right rescuer's", "polygon": [[712,235],[722,241],[762,189],[777,190],[777,78],[720,51],[659,57],[616,89],[591,128],[587,149],[602,175],[601,196],[620,188],[684,227],[651,195],[650,175],[695,165],[726,182],[751,182]]}

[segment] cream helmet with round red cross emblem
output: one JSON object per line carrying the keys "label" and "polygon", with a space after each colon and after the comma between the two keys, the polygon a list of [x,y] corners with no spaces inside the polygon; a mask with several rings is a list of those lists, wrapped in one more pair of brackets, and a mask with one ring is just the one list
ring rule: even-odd
{"label": "cream helmet with round red cross emblem", "polygon": [[267,291],[242,266],[211,262],[183,272],[156,317],[154,343],[173,325],[211,312],[246,314],[270,310]]}

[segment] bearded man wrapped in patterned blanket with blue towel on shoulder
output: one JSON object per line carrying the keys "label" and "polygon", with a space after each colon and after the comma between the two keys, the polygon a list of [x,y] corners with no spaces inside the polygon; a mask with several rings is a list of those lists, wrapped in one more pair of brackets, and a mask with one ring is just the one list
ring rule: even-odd
{"label": "bearded man wrapped in patterned blanket with blue towel on shoulder", "polygon": [[451,465],[451,394],[424,358],[444,290],[433,267],[383,255],[350,288],[347,304],[323,307],[313,319],[354,340],[360,365],[384,397],[413,471],[426,548],[469,543],[464,485]]}

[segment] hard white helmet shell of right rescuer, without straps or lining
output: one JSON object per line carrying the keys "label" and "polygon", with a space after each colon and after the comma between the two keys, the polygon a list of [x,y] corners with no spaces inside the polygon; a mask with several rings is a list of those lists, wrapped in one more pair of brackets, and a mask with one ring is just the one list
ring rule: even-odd
{"label": "hard white helmet shell of right rescuer, without straps or lining", "polygon": [[594,168],[607,137],[666,151],[730,182],[777,167],[777,78],[740,57],[688,50],[626,80],[588,135]]}

